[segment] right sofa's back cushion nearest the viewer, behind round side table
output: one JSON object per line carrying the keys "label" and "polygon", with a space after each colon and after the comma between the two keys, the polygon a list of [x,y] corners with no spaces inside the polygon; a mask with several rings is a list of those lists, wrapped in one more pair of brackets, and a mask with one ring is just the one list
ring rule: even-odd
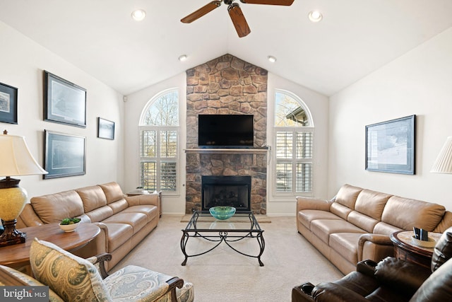
{"label": "right sofa's back cushion nearest the viewer, behind round side table", "polygon": [[411,230],[416,226],[431,232],[441,221],[445,211],[439,204],[393,196],[386,202],[381,221],[404,230]]}

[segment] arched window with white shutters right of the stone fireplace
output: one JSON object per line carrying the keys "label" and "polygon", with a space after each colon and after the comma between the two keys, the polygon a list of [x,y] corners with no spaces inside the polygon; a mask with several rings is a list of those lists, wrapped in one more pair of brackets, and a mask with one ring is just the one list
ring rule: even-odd
{"label": "arched window with white shutters right of the stone fireplace", "polygon": [[297,95],[275,90],[275,194],[310,193],[314,122]]}

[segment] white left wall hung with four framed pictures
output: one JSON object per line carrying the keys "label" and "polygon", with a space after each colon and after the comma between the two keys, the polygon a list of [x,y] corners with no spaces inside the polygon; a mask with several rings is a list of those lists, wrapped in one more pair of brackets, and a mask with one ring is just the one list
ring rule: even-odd
{"label": "white left wall hung with four framed pictures", "polygon": [[[0,122],[1,131],[25,137],[38,163],[44,165],[44,129],[86,137],[86,175],[43,180],[22,176],[28,197],[123,180],[122,95],[0,22],[0,82],[18,88],[18,124]],[[87,127],[43,120],[43,70],[87,90]],[[97,139],[97,117],[116,122],[114,141]]]}

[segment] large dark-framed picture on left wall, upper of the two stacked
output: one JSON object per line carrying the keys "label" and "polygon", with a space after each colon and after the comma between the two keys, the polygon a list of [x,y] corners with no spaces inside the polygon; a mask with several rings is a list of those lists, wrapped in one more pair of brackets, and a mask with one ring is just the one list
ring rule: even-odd
{"label": "large dark-framed picture on left wall, upper of the two stacked", "polygon": [[86,90],[44,71],[44,120],[86,127]]}

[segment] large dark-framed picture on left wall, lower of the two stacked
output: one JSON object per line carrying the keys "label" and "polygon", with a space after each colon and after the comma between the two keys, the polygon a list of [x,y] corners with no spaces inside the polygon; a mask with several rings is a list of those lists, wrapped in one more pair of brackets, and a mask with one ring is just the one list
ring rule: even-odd
{"label": "large dark-framed picture on left wall, lower of the two stacked", "polygon": [[85,175],[85,137],[45,130],[44,179]]}

